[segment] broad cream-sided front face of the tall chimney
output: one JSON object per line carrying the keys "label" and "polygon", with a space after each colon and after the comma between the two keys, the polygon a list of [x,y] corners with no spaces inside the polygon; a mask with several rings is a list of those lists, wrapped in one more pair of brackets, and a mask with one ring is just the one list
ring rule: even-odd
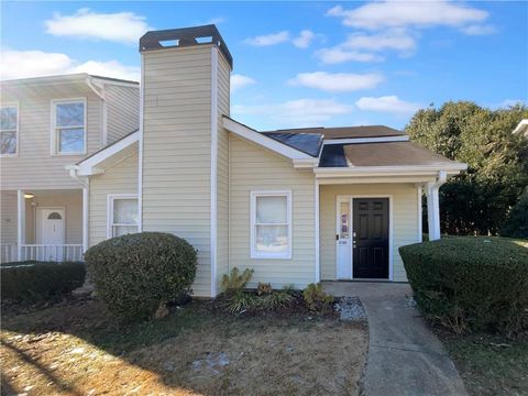
{"label": "broad cream-sided front face of the tall chimney", "polygon": [[[211,46],[143,57],[144,231],[170,232],[198,250],[197,296],[211,295]],[[170,161],[167,161],[170,158]]]}

